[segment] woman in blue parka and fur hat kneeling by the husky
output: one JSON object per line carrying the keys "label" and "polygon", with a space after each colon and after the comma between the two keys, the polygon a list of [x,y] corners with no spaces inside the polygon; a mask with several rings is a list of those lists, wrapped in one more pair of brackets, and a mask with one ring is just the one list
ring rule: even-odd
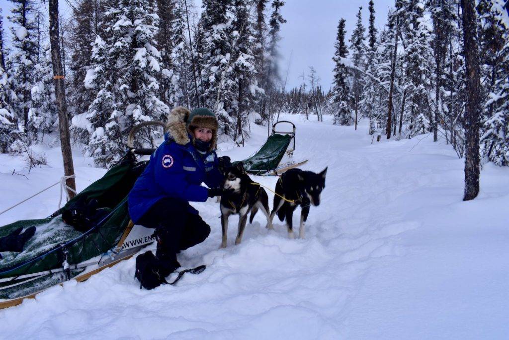
{"label": "woman in blue parka and fur hat kneeling by the husky", "polygon": [[217,119],[209,110],[173,109],[164,137],[136,180],[128,203],[135,224],[156,229],[156,257],[167,276],[180,267],[177,252],[209,236],[209,225],[189,201],[205,202],[208,197],[220,196],[223,175],[214,151]]}

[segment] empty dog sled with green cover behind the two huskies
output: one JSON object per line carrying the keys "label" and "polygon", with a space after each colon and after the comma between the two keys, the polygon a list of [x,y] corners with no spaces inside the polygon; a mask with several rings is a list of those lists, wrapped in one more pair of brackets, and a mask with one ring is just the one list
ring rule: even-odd
{"label": "empty dog sled with green cover behind the two huskies", "polygon": [[[284,126],[282,130],[276,130],[278,124]],[[250,174],[277,176],[307,162],[307,160],[295,162],[293,159],[294,151],[295,124],[287,120],[281,120],[272,125],[272,133],[265,144],[254,155],[243,160],[242,163],[244,169]]]}

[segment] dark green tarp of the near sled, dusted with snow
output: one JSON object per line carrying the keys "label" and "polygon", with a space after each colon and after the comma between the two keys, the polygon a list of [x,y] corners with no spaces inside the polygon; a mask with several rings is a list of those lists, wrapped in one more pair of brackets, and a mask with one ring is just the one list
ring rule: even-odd
{"label": "dark green tarp of the near sled, dusted with snow", "polygon": [[[115,247],[129,223],[127,194],[145,165],[136,164],[134,156],[128,154],[50,217],[17,221],[0,227],[0,237],[19,227],[37,227],[36,234],[25,244],[23,252],[2,253],[0,279],[62,268],[64,257],[70,265],[79,264]],[[65,224],[61,215],[69,206],[92,199],[98,201],[99,208],[110,212],[99,226],[81,233]],[[1,294],[0,298],[3,298]]]}

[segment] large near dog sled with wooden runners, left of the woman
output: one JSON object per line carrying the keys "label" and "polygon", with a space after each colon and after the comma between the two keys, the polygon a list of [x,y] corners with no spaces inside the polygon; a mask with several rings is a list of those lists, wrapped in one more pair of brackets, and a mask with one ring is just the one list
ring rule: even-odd
{"label": "large near dog sled with wooden runners, left of the woman", "polygon": [[160,122],[134,127],[125,156],[51,216],[0,226],[0,238],[20,228],[37,228],[21,252],[2,252],[0,308],[71,279],[86,280],[154,241],[153,229],[133,225],[127,207],[127,194],[148,163],[136,156],[154,151],[154,145],[134,147],[133,139],[139,128],[150,125],[164,127]]}

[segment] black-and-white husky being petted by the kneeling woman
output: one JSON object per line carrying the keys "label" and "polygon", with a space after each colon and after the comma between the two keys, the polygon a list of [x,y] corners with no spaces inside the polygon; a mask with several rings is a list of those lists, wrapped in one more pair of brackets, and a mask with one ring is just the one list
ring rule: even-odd
{"label": "black-and-white husky being petted by the kneeling woman", "polygon": [[260,208],[267,217],[267,228],[272,229],[267,192],[249,178],[244,171],[242,162],[225,170],[224,189],[233,191],[221,196],[221,248],[226,247],[228,218],[232,214],[239,215],[239,230],[237,231],[235,244],[239,244],[242,241],[242,234],[244,233],[249,212],[251,212],[249,223],[252,223],[254,215],[256,215]]}

